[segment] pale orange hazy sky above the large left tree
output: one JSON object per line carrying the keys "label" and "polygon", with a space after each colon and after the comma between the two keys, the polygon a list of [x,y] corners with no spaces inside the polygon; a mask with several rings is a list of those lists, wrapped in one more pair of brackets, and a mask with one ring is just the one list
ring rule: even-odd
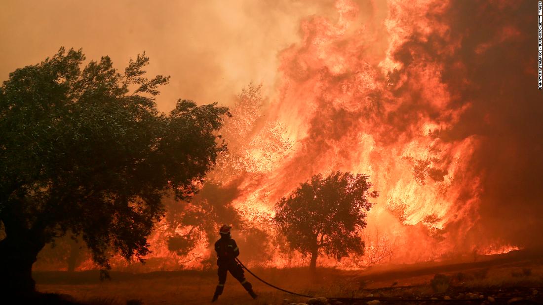
{"label": "pale orange hazy sky above the large left tree", "polygon": [[117,69],[146,51],[149,75],[170,75],[157,99],[229,105],[249,82],[272,90],[277,54],[299,40],[302,18],[326,15],[332,1],[2,1],[0,80],[52,56],[83,48]]}

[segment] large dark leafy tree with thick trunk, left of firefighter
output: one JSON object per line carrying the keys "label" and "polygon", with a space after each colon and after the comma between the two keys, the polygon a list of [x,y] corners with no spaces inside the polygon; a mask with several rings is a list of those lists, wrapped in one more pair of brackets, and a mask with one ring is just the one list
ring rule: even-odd
{"label": "large dark leafy tree with thick trunk, left of firefighter", "polygon": [[110,250],[142,259],[163,195],[190,198],[226,149],[216,132],[228,109],[179,100],[160,114],[168,77],[144,77],[144,54],[124,74],[107,56],[81,70],[84,60],[61,48],[0,87],[3,290],[33,291],[36,255],[66,234],[103,268]]}

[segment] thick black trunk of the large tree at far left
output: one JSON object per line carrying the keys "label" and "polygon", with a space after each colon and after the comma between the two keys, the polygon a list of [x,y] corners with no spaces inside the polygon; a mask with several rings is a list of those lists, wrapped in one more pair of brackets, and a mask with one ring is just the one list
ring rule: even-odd
{"label": "thick black trunk of the large tree at far left", "polygon": [[0,241],[0,295],[25,296],[35,291],[32,265],[45,242],[29,230],[16,235],[8,230],[6,233]]}

